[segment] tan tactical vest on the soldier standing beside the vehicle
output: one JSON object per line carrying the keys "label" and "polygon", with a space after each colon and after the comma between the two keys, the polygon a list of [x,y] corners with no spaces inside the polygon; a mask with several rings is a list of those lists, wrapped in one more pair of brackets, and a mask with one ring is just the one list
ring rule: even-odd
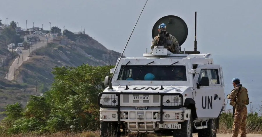
{"label": "tan tactical vest on the soldier standing beside the vehicle", "polygon": [[249,97],[247,94],[247,89],[245,87],[239,86],[241,88],[236,96],[236,103],[238,105],[248,105],[249,104]]}

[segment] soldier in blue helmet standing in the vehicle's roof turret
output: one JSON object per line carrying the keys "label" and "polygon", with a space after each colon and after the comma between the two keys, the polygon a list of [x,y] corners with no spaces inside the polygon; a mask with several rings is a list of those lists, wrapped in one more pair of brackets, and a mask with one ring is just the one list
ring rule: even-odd
{"label": "soldier in blue helmet standing in the vehicle's roof turret", "polygon": [[[161,26],[161,27],[160,27],[160,26]],[[162,31],[163,31],[163,33],[164,33],[165,38],[166,38],[167,40],[173,41],[173,45],[166,47],[167,50],[169,50],[170,52],[176,52],[176,53],[178,53],[178,52],[180,51],[180,46],[179,46],[179,44],[178,44],[177,39],[176,39],[173,35],[171,35],[171,34],[169,34],[169,33],[167,32],[167,26],[166,26],[165,23],[162,23],[162,24],[159,25],[158,31],[160,32],[161,29],[162,29]],[[160,40],[160,34],[158,34],[157,36],[155,36],[155,38],[153,39],[152,44],[151,44],[151,50],[154,48],[154,46],[157,46],[157,43],[158,43],[159,40]]]}

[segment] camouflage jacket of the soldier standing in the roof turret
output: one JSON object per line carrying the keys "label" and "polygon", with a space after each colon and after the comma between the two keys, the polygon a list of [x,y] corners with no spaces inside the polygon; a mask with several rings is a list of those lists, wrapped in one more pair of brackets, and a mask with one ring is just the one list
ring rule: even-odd
{"label": "camouflage jacket of the soldier standing in the roof turret", "polygon": [[[167,32],[166,32],[167,33]],[[154,46],[157,45],[157,42],[159,40],[159,34],[157,36],[155,36],[155,38],[153,39],[152,41],[152,44],[151,44],[151,50],[154,48]],[[167,40],[169,41],[173,41],[173,46],[168,46],[167,47],[167,50],[169,50],[170,52],[179,52],[179,49],[180,49],[180,46],[178,44],[178,41],[176,39],[176,37],[174,37],[173,35],[169,34],[168,37],[166,37]]]}

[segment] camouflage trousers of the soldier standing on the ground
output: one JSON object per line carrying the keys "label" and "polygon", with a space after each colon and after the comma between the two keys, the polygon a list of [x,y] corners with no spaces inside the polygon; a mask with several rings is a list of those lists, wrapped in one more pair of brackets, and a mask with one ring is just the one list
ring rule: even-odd
{"label": "camouflage trousers of the soldier standing on the ground", "polygon": [[241,109],[235,109],[232,137],[238,136],[239,129],[241,129],[242,131],[240,137],[247,137],[246,119],[247,119],[246,106],[242,107]]}

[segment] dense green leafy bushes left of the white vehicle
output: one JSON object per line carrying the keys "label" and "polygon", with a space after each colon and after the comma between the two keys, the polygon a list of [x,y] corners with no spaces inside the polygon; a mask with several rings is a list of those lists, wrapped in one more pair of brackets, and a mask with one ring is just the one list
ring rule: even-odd
{"label": "dense green leafy bushes left of the white vehicle", "polygon": [[97,96],[105,89],[102,81],[111,68],[114,66],[55,67],[50,90],[43,96],[31,96],[24,109],[18,104],[6,107],[13,113],[6,113],[2,125],[10,134],[98,130]]}

